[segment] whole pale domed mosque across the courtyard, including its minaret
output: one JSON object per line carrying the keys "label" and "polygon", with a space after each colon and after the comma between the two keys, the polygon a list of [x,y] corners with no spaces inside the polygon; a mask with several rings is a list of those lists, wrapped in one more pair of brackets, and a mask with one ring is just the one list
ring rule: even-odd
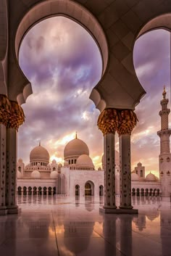
{"label": "whole pale domed mosque across the courtyard, including its minaret", "polygon": [[[162,110],[160,138],[159,178],[149,173],[145,176],[145,167],[138,165],[131,173],[132,194],[137,196],[155,196],[162,194],[168,197],[171,191],[170,182],[170,134],[168,128],[168,99],[164,88],[163,99],[160,102]],[[104,157],[101,158],[101,168],[95,170],[89,156],[87,144],[78,139],[72,139],[64,148],[64,165],[53,160],[49,162],[49,152],[39,144],[30,152],[30,163],[25,165],[22,159],[17,162],[17,193],[44,194],[67,196],[103,196],[104,195]],[[120,157],[115,151],[115,191],[120,194]]]}

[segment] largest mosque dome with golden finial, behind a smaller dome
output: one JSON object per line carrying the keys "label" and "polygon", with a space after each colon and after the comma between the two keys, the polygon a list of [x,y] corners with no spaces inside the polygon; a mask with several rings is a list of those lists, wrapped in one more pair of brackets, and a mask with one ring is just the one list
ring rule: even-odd
{"label": "largest mosque dome with golden finial, behind a smaller dome", "polygon": [[64,159],[67,157],[80,156],[81,154],[89,155],[87,144],[81,139],[72,139],[64,148]]}

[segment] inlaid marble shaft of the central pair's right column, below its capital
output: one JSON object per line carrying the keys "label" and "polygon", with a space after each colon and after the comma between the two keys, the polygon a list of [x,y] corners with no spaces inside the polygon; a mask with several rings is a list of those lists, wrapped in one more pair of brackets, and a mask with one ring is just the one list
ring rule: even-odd
{"label": "inlaid marble shaft of the central pair's right column, below its capital", "polygon": [[120,135],[120,209],[131,205],[130,134]]}

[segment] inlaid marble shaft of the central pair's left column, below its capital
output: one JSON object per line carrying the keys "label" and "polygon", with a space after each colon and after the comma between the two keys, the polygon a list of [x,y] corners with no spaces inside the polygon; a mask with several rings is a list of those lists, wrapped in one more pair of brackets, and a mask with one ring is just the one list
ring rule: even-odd
{"label": "inlaid marble shaft of the central pair's left column, below its capital", "polygon": [[104,209],[116,209],[115,205],[115,156],[114,134],[104,135]]}

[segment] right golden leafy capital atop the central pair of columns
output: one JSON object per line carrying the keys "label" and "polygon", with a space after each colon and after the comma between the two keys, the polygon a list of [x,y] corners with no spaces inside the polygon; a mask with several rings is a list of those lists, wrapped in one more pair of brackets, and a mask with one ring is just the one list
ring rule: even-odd
{"label": "right golden leafy capital atop the central pair of columns", "polygon": [[117,133],[120,135],[131,134],[133,128],[138,122],[138,118],[133,110],[119,110],[119,125],[117,127]]}

